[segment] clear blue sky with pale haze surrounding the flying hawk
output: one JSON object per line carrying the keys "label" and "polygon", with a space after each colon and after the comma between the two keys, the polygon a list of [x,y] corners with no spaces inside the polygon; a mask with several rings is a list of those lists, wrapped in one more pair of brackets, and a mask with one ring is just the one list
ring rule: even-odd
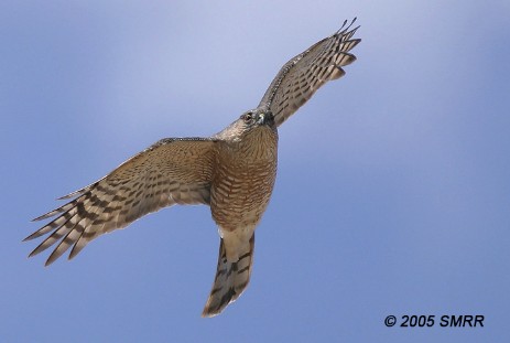
{"label": "clear blue sky with pale haze surrounding the flying hawk", "polygon": [[[164,137],[209,136],[358,17],[347,75],[280,128],[245,294],[199,317],[218,236],[163,210],[50,268],[30,219]],[[503,342],[510,2],[2,1],[3,342]],[[386,328],[482,314],[485,328]]]}

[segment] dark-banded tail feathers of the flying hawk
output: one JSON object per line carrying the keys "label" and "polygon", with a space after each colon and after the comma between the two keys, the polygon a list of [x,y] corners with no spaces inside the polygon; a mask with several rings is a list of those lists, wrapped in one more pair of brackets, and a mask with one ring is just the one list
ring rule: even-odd
{"label": "dark-banded tail feathers of the flying hawk", "polygon": [[219,244],[218,267],[215,282],[210,290],[209,298],[202,312],[202,317],[214,317],[219,314],[230,302],[245,291],[250,281],[251,267],[253,261],[254,234],[251,236],[245,251],[239,255],[237,262],[227,260],[227,250],[224,239]]}

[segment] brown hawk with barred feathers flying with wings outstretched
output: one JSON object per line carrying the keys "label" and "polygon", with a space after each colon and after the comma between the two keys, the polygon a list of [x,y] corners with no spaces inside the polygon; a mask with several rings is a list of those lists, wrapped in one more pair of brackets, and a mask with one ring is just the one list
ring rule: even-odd
{"label": "brown hawk with barred feathers flying with wings outstretched", "polygon": [[354,19],[333,35],[291,58],[259,106],[208,138],[165,138],[130,158],[105,178],[61,197],[65,205],[34,221],[52,218],[24,240],[47,235],[30,257],[55,245],[54,262],[69,259],[93,239],[123,228],[163,207],[205,204],[220,236],[217,271],[202,313],[219,314],[246,289],[251,276],[254,229],[276,178],[278,127],[326,82],[344,76]]}

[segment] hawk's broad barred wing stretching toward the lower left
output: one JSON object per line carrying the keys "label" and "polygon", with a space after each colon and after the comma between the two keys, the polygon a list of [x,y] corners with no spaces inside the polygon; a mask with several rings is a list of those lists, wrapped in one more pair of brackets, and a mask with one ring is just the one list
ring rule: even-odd
{"label": "hawk's broad barred wing stretching toward the lower left", "polygon": [[24,240],[50,234],[30,257],[58,242],[46,260],[70,246],[69,259],[99,235],[122,228],[143,215],[174,204],[209,204],[215,140],[162,139],[101,180],[61,199],[67,204],[34,221],[57,216]]}

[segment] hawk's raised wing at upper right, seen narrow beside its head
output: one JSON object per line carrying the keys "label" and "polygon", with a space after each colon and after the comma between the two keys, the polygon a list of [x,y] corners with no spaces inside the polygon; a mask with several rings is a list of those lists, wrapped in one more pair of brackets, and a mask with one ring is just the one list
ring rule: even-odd
{"label": "hawk's raised wing at upper right, seen narrow beside its head", "polygon": [[335,34],[315,43],[280,69],[259,104],[259,108],[272,111],[276,126],[292,116],[326,82],[344,76],[341,67],[356,61],[356,56],[349,53],[361,41],[352,39],[359,28],[350,30],[355,21],[356,18],[347,26],[345,21]]}

